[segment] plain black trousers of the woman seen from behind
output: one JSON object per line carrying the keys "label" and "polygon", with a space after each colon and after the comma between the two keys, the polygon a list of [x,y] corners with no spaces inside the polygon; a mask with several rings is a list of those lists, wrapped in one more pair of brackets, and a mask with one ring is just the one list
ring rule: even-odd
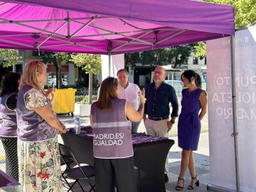
{"label": "plain black trousers of the woman seen from behind", "polygon": [[134,178],[134,157],[123,159],[95,158],[96,192],[137,192]]}

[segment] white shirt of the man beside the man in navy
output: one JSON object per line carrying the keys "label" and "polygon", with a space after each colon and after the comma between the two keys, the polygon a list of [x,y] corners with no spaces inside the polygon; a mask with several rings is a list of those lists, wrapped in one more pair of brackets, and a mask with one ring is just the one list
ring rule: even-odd
{"label": "white shirt of the man beside the man in navy", "polygon": [[135,110],[139,108],[139,86],[128,82],[128,86],[124,89],[122,86],[119,85],[119,99],[127,100]]}

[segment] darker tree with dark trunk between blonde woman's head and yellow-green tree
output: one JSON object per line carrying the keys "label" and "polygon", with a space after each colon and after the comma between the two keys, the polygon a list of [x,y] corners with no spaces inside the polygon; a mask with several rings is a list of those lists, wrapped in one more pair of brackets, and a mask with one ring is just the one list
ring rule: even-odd
{"label": "darker tree with dark trunk between blonde woman's head and yellow-green tree", "polygon": [[43,52],[42,56],[43,63],[53,63],[53,65],[55,66],[57,88],[61,88],[63,85],[61,66],[68,63],[68,61],[70,60],[70,53]]}

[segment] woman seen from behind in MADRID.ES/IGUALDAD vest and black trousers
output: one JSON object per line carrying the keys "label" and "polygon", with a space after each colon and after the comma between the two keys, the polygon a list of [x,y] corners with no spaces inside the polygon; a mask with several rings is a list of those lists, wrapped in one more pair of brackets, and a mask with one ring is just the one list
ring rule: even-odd
{"label": "woman seen from behind in MADRID.ES/IGUALDAD vest and black trousers", "polygon": [[[95,156],[95,189],[97,192],[136,192],[132,148],[132,122],[142,120],[144,91],[138,93],[141,105],[136,111],[129,102],[118,98],[116,78],[106,78],[100,87],[100,97],[91,107]],[[130,121],[129,121],[129,120]]]}

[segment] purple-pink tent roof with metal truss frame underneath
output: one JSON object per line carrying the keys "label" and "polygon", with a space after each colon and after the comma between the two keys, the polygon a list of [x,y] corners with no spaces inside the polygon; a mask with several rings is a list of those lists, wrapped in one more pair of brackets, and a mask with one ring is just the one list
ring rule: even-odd
{"label": "purple-pink tent roof with metal truss frame underneath", "polygon": [[0,1],[0,48],[119,54],[229,36],[234,26],[233,6],[201,1]]}

